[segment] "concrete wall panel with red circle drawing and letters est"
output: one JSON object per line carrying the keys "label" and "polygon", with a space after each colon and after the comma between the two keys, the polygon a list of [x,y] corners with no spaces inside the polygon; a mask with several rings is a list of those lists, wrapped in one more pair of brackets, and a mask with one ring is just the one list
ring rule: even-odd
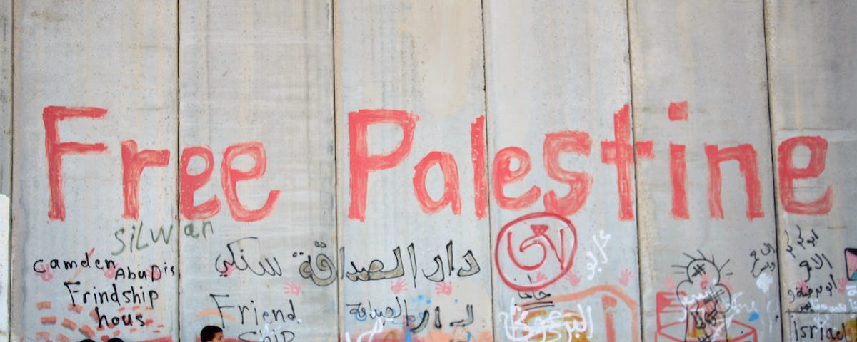
{"label": "concrete wall panel with red circle drawing and letters est", "polygon": [[625,2],[484,16],[496,337],[638,340]]}

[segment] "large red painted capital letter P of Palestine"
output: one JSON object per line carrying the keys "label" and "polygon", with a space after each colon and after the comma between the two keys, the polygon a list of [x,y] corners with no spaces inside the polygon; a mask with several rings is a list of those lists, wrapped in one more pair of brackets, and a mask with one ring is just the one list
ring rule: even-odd
{"label": "large red painted capital letter P of Palestine", "polygon": [[[366,193],[369,172],[393,168],[411,152],[417,115],[404,110],[361,109],[348,113],[348,167],[351,176],[351,204],[348,218],[366,220]],[[389,123],[402,128],[402,141],[395,150],[387,154],[369,156],[366,132],[371,124]]]}

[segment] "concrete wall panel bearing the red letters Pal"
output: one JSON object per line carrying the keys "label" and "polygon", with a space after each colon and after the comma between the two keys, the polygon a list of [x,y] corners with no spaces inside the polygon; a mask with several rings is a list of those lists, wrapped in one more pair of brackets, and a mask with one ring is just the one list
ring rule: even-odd
{"label": "concrete wall panel bearing the red letters Pal", "polygon": [[493,340],[480,4],[339,2],[334,18],[341,334]]}

